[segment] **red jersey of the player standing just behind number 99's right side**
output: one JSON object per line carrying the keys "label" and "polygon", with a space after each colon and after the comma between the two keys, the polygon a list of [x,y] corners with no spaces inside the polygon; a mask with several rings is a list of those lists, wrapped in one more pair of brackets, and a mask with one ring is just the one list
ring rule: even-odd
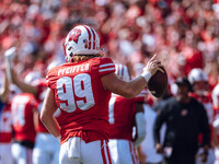
{"label": "red jersey of the player standing just behind number 99's right side", "polygon": [[134,98],[125,98],[113,94],[110,101],[110,139],[125,139],[132,141],[135,126],[136,103],[142,103],[145,94]]}

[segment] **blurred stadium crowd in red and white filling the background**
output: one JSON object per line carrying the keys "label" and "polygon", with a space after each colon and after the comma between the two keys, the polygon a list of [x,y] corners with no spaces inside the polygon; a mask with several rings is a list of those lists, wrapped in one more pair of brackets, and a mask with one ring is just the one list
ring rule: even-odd
{"label": "blurred stadium crowd in red and white filling the background", "polygon": [[[210,95],[212,113],[219,109],[218,0],[2,0],[1,68],[4,52],[16,47],[12,67],[19,78],[24,79],[30,72],[45,78],[49,63],[65,62],[62,43],[68,32],[79,24],[92,26],[100,35],[105,57],[126,65],[131,77],[140,74],[142,66],[158,54],[168,72],[172,96],[178,77],[189,80],[191,71],[200,69],[207,77],[203,79],[208,85],[205,96]],[[3,77],[1,70],[0,78]],[[191,83],[194,85],[195,81]],[[146,99],[147,107],[151,108],[160,101],[150,94]],[[209,124],[218,127],[216,114],[212,115]],[[217,142],[212,145],[216,153]],[[147,162],[140,152],[139,159],[141,163]]]}

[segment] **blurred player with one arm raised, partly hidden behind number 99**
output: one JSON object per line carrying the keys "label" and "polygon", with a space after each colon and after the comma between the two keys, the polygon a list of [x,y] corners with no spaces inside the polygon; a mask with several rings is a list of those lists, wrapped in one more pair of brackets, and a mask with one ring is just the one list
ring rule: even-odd
{"label": "blurred player with one arm raised, partly hidden behind number 99", "polygon": [[[38,72],[30,72],[25,79],[21,79],[20,75],[16,73],[13,65],[13,56],[15,55],[14,50],[10,48],[8,52],[4,55],[7,61],[9,61],[8,75],[11,78],[11,81],[16,84],[23,92],[31,93],[35,96],[36,101],[38,102],[38,114],[42,109],[42,104],[46,93],[46,79],[42,78]],[[60,62],[51,62],[48,66],[48,69],[51,67],[59,65]],[[58,110],[57,110],[58,112]],[[39,115],[38,115],[39,116]],[[58,115],[56,116],[58,117]],[[45,128],[43,122],[38,117],[37,124],[37,136],[35,140],[35,145],[33,150],[33,163],[34,164],[58,164],[58,154],[60,150],[59,141],[54,138],[48,130]]]}

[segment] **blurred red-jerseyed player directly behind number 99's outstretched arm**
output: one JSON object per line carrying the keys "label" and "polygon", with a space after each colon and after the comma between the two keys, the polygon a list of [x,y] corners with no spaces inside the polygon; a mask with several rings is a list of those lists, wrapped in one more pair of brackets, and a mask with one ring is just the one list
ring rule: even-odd
{"label": "blurred red-jerseyed player directly behind number 99's outstretched arm", "polygon": [[[130,75],[126,66],[116,63],[116,74],[124,81],[130,81]],[[142,91],[134,98],[125,98],[113,94],[110,99],[108,121],[110,121],[110,151],[115,164],[138,163],[135,148],[137,148],[146,137],[146,120],[143,118],[142,104],[145,102]],[[136,129],[134,131],[134,129]],[[135,137],[132,137],[135,132]]]}

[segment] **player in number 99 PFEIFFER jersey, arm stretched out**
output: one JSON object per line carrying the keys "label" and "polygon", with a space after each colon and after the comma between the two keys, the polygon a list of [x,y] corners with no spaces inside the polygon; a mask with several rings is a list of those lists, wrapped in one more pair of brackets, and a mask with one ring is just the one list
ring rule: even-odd
{"label": "player in number 99 PFEIFFER jersey, arm stretched out", "polygon": [[[139,78],[120,80],[112,59],[101,55],[97,33],[87,25],[72,28],[64,47],[67,63],[47,73],[41,119],[60,139],[60,164],[112,163],[107,147],[111,93],[137,96],[162,65],[154,55]],[[61,109],[59,124],[54,118],[57,108]]]}

